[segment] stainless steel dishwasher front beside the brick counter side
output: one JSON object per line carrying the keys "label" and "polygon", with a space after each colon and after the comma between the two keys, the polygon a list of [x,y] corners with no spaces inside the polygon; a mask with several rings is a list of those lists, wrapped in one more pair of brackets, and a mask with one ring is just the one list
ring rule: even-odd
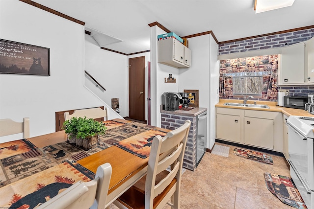
{"label": "stainless steel dishwasher front beside the brick counter side", "polygon": [[207,141],[207,111],[196,118],[196,167],[206,152]]}

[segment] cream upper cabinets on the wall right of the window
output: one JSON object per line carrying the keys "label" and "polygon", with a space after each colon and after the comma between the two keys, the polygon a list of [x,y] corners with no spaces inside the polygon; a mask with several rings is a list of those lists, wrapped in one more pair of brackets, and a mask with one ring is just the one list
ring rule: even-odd
{"label": "cream upper cabinets on the wall right of the window", "polygon": [[281,49],[278,85],[314,84],[314,37]]}

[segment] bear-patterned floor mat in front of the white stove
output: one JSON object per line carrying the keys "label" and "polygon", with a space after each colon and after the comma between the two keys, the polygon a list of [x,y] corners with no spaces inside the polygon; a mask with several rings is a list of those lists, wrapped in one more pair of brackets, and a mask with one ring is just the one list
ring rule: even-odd
{"label": "bear-patterned floor mat in front of the white stove", "polygon": [[268,190],[281,202],[296,209],[307,209],[291,178],[273,173],[264,173]]}

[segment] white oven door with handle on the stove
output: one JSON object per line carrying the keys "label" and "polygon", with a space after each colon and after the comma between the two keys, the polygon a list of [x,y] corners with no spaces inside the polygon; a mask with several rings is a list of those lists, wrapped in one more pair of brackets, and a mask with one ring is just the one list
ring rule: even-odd
{"label": "white oven door with handle on the stove", "polygon": [[303,136],[288,124],[288,152],[291,167],[295,170],[304,187],[314,190],[313,139]]}

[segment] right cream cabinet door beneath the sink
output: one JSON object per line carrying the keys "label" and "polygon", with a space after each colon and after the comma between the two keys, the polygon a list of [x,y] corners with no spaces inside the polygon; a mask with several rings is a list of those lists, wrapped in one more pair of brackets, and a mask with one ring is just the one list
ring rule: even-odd
{"label": "right cream cabinet door beneath the sink", "polygon": [[274,149],[274,120],[244,117],[244,144]]}

